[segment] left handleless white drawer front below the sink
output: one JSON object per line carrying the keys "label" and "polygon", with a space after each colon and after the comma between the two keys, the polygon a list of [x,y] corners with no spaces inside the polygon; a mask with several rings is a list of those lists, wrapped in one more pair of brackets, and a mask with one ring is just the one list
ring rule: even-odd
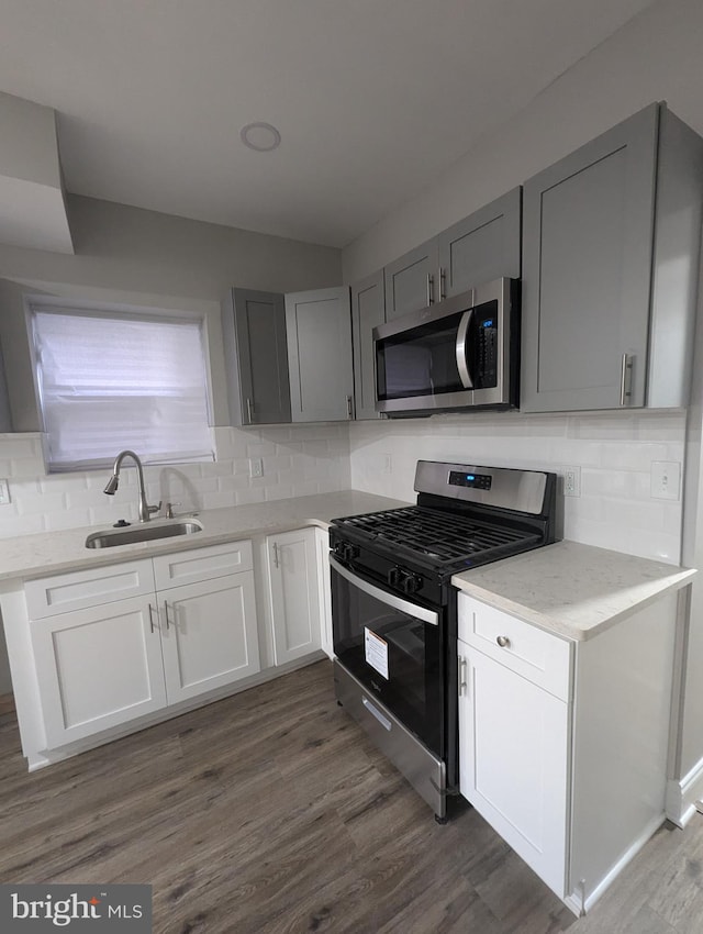
{"label": "left handleless white drawer front below the sink", "polygon": [[31,620],[69,613],[154,591],[152,561],[124,561],[29,580],[24,585]]}

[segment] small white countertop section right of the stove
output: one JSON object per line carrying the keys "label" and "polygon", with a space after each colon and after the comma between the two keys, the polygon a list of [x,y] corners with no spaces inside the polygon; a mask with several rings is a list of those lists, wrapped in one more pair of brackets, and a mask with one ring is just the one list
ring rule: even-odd
{"label": "small white countertop section right of the stove", "polygon": [[690,582],[695,570],[557,542],[451,578],[460,590],[557,635],[592,638]]}

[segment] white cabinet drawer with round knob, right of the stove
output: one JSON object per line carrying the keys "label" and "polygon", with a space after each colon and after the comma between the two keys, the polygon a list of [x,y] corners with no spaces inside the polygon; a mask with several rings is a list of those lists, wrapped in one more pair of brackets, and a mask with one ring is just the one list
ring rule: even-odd
{"label": "white cabinet drawer with round knob, right of the stove", "polygon": [[571,697],[571,643],[567,640],[466,593],[458,597],[458,625],[459,638],[484,655],[561,700]]}

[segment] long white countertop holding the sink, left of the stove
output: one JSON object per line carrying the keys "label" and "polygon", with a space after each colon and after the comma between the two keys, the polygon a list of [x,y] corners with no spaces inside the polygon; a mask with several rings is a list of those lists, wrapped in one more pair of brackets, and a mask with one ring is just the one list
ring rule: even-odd
{"label": "long white countertop holding the sink, left of the stove", "polygon": [[[188,516],[197,515],[203,526],[202,532],[153,542],[118,545],[111,548],[93,549],[85,545],[89,534],[111,530],[109,525],[0,538],[0,581],[18,578],[26,580],[32,577],[101,567],[116,561],[146,558],[204,545],[219,545],[248,538],[252,535],[288,532],[305,525],[320,525],[324,529],[332,519],[343,515],[356,515],[361,512],[395,509],[402,505],[408,503],[357,490],[342,490],[335,493],[319,493],[187,513]],[[175,521],[183,518],[186,516],[177,516]],[[161,520],[156,521],[161,522]],[[138,526],[138,523],[134,525]]]}

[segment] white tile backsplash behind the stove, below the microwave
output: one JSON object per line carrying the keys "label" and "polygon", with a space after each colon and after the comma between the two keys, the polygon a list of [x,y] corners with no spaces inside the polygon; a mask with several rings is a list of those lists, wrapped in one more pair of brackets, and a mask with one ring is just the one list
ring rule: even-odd
{"label": "white tile backsplash behind the stove, below the microwave", "polygon": [[678,564],[681,498],[652,498],[650,475],[654,462],[683,463],[684,433],[682,411],[357,422],[349,427],[352,486],[413,501],[419,459],[554,470],[561,478],[567,466],[580,467],[580,496],[558,496],[565,538]]}

